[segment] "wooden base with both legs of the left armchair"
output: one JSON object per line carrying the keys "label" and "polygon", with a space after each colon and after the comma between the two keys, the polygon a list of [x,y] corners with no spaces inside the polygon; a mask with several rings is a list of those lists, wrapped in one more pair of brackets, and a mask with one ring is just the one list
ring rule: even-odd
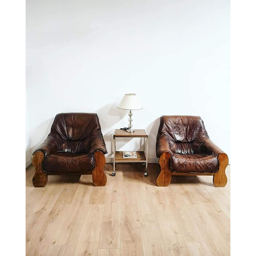
{"label": "wooden base with both legs of the left armchair", "polygon": [[[94,186],[102,187],[107,183],[107,176],[104,172],[104,165],[106,163],[106,158],[104,154],[100,151],[94,153],[95,167],[92,171],[83,172],[82,174],[92,174],[92,182]],[[32,178],[32,183],[36,188],[43,188],[48,182],[48,175],[43,170],[44,153],[42,151],[37,151],[32,158],[32,164],[34,165],[36,171]],[[54,174],[55,175],[55,174]],[[80,177],[79,173],[71,173],[71,175],[77,175]]]}

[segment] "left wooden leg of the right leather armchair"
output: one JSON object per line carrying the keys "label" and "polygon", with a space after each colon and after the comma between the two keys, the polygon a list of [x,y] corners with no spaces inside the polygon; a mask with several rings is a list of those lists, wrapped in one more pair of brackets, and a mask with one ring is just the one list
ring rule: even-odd
{"label": "left wooden leg of the right leather armchair", "polygon": [[161,167],[161,172],[159,173],[156,184],[158,187],[167,187],[172,179],[171,171],[171,154],[169,152],[164,152],[159,157],[159,165]]}

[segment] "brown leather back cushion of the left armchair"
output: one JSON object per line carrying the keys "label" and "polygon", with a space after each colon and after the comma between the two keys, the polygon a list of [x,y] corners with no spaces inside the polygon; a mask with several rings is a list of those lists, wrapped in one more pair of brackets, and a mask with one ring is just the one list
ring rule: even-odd
{"label": "brown leather back cushion of the left armchair", "polygon": [[98,116],[94,113],[60,113],[54,119],[51,132],[73,141],[85,140],[101,131]]}

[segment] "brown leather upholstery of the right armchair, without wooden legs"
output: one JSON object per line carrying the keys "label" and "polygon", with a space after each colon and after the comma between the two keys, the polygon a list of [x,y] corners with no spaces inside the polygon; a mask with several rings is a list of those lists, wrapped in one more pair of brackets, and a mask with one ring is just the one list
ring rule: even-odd
{"label": "brown leather upholstery of the right armchair, without wooden legs", "polygon": [[156,156],[171,153],[172,172],[218,172],[223,151],[210,139],[199,116],[162,116],[156,138]]}

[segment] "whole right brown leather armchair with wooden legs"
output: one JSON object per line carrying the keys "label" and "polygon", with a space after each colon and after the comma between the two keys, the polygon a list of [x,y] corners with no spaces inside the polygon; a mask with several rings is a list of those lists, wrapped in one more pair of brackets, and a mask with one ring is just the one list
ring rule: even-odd
{"label": "whole right brown leather armchair with wooden legs", "polygon": [[162,116],[156,156],[160,187],[168,186],[172,175],[213,175],[215,187],[227,184],[228,156],[209,139],[200,116]]}

